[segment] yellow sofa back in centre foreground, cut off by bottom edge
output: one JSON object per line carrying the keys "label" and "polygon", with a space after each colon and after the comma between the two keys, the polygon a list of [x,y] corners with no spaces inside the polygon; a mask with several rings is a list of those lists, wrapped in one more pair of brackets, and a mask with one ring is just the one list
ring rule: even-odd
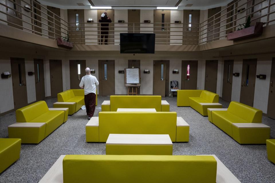
{"label": "yellow sofa back in centre foreground, cut off by bottom edge", "polygon": [[64,183],[215,183],[213,156],[66,155]]}

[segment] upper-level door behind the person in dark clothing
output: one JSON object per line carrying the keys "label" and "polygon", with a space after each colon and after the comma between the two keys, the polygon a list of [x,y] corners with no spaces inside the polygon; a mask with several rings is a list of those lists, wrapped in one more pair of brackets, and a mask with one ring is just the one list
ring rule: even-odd
{"label": "upper-level door behind the person in dark clothing", "polygon": [[[107,12],[107,16],[110,17],[110,19],[112,21],[112,23],[109,23],[108,44],[109,45],[113,45],[114,42],[115,42],[115,40],[114,40],[114,34],[115,34],[115,32],[114,32],[114,26],[115,26],[115,24],[114,24],[114,22],[115,22],[115,19],[114,19],[114,17],[115,17],[114,10],[113,9],[98,9],[97,10],[97,19],[101,19],[101,14],[104,13],[105,11]],[[100,31],[100,27],[99,26],[101,26],[101,24],[98,23],[97,26],[98,26],[97,30],[98,30],[98,34],[99,34],[99,36],[98,36],[98,42],[99,43],[98,44],[100,44],[100,40],[101,40],[100,39],[100,34],[101,34],[101,31]],[[104,41],[105,41],[105,37],[103,39],[103,42]]]}

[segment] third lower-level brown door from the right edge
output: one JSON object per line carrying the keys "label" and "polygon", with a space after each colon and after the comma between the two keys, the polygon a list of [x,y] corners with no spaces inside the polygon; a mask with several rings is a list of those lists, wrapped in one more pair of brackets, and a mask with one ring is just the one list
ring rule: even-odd
{"label": "third lower-level brown door from the right edge", "polygon": [[231,102],[234,60],[225,60],[223,65],[222,99]]}

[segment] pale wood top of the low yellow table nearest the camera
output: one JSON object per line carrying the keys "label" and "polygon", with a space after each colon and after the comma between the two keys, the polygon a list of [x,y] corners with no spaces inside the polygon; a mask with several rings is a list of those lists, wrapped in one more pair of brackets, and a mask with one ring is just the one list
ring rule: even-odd
{"label": "pale wood top of the low yellow table nearest the camera", "polygon": [[168,134],[109,134],[106,145],[173,145]]}

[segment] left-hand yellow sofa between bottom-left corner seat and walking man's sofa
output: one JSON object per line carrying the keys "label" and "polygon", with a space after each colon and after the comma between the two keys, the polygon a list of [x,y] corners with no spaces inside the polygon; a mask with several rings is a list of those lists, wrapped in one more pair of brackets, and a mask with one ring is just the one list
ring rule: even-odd
{"label": "left-hand yellow sofa between bottom-left corner seat and walking man's sofa", "polygon": [[[64,122],[64,111],[50,111],[45,101],[16,110],[16,124],[8,127],[9,138],[21,138],[23,144],[38,144]],[[28,127],[25,124],[28,123]],[[31,123],[45,123],[32,126]]]}

